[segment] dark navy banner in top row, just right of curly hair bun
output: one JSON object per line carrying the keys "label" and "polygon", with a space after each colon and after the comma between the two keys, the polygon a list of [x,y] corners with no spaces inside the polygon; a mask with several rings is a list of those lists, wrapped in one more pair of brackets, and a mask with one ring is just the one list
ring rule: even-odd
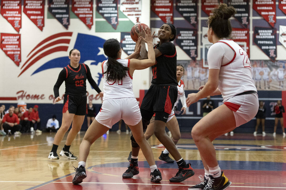
{"label": "dark navy banner in top row, just right of curly hair bun", "polygon": [[[249,0],[228,0],[228,5],[235,8],[236,12],[234,17],[241,25],[248,28],[249,24]],[[248,54],[249,55],[249,54]]]}

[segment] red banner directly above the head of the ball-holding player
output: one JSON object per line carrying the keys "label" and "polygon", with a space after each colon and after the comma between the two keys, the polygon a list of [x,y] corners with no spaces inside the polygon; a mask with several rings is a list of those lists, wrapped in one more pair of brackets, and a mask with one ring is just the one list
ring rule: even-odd
{"label": "red banner directly above the head of the ball-holding player", "polygon": [[164,22],[173,24],[173,0],[152,0],[151,10]]}

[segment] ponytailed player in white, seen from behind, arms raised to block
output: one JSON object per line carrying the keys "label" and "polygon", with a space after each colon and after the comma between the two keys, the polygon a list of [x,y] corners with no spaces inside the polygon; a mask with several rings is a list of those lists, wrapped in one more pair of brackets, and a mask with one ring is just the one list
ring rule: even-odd
{"label": "ponytailed player in white, seen from behind, arms raised to block", "polygon": [[[151,146],[144,137],[140,108],[132,90],[134,70],[145,69],[155,64],[155,52],[152,45],[154,33],[153,35],[151,34],[150,28],[146,32],[144,32],[145,38],[140,37],[136,43],[135,52],[126,59],[120,58],[121,48],[118,40],[109,39],[103,45],[104,54],[108,56],[108,60],[101,64],[104,80],[103,103],[100,112],[86,131],[84,139],[80,144],[80,162],[78,163],[78,168],[75,169],[76,175],[72,180],[74,184],[81,183],[82,179],[86,178],[85,165],[92,143],[105,134],[120,119],[123,119],[129,126],[136,142],[141,147],[150,165],[151,181],[159,182],[162,180],[161,173],[155,164]],[[148,59],[130,60],[130,58],[139,57],[141,39],[148,45]]]}

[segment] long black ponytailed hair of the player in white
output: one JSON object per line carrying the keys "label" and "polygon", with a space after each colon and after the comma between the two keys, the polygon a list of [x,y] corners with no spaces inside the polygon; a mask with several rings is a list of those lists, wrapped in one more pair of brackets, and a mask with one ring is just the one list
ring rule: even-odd
{"label": "long black ponytailed hair of the player in white", "polygon": [[116,60],[117,54],[120,51],[118,40],[114,38],[106,40],[103,44],[103,50],[104,54],[108,56],[107,70],[103,73],[107,73],[106,81],[122,80],[122,78],[127,76],[126,71],[128,71],[129,68],[123,66]]}

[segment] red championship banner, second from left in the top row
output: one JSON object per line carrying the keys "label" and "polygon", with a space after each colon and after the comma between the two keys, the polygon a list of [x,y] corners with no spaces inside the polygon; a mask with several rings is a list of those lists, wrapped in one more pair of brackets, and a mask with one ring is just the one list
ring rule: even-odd
{"label": "red championship banner, second from left in the top row", "polygon": [[24,0],[23,12],[42,31],[43,27],[45,26],[44,8],[45,8],[44,0],[39,0],[39,1]]}

